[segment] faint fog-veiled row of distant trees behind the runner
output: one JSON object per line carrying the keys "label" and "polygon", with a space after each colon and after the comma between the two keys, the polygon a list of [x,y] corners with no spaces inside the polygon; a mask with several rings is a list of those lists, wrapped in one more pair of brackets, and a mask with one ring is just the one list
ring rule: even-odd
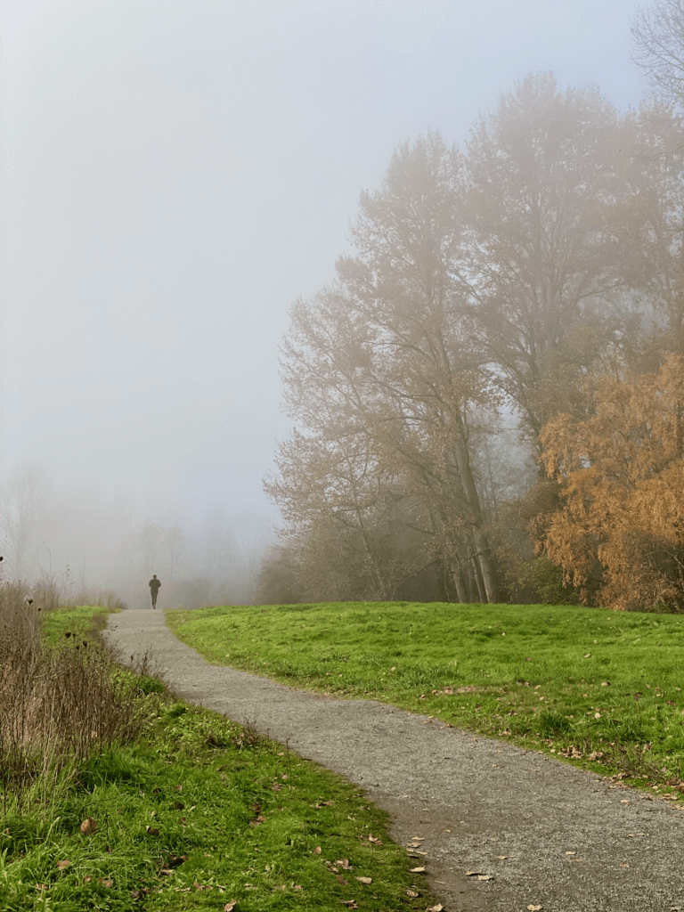
{"label": "faint fog-veiled row of distant trees behind the runner", "polygon": [[164,607],[253,599],[264,536],[238,537],[218,512],[186,533],[136,520],[135,505],[122,499],[57,491],[39,462],[17,465],[0,482],[0,580],[21,584],[44,606],[100,605],[114,595],[149,606],[152,574]]}

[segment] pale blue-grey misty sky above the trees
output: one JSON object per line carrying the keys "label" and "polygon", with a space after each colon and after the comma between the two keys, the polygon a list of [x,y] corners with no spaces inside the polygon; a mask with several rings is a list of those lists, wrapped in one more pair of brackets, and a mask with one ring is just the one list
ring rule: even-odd
{"label": "pale blue-grey misty sky above the trees", "polygon": [[5,2],[0,475],[43,461],[161,523],[265,526],[287,310],[334,275],[359,192],[528,72],[636,106],[635,10]]}

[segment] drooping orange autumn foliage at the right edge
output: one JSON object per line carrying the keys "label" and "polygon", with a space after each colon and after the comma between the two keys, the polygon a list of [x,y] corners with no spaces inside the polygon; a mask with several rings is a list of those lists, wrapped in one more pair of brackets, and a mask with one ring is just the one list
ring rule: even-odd
{"label": "drooping orange autumn foliage at the right edge", "polygon": [[[684,605],[684,358],[657,373],[600,378],[584,420],[540,434],[560,506],[534,521],[538,549],[585,601],[638,610]],[[533,530],[534,531],[534,530]]]}

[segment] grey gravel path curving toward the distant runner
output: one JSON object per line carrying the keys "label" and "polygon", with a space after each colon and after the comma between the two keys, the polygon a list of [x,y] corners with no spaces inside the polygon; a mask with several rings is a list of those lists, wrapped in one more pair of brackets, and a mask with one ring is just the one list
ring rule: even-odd
{"label": "grey gravel path curving toward the distant runner", "polygon": [[665,801],[425,716],[208,665],[161,611],[110,615],[105,636],[125,658],[150,649],[183,700],[358,783],[395,840],[423,840],[447,912],[684,910],[684,813]]}

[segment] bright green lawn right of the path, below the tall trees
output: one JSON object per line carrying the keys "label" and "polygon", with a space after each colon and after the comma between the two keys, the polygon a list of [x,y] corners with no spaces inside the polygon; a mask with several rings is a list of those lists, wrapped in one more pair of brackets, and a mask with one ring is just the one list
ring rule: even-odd
{"label": "bright green lawn right of the path, below the tall trees", "polygon": [[684,617],[405,602],[167,611],[216,665],[370,698],[630,778],[684,788]]}

